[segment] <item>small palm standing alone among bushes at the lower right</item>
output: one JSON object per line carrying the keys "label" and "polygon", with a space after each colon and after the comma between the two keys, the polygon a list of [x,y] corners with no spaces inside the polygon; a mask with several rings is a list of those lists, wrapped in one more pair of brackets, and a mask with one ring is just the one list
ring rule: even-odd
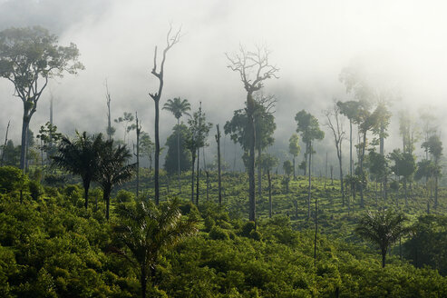
{"label": "small palm standing alone among bushes at the lower right", "polygon": [[387,250],[409,231],[403,226],[405,221],[406,217],[403,214],[396,214],[390,209],[375,213],[368,211],[355,228],[355,232],[362,238],[379,246],[382,253],[382,268],[385,266]]}

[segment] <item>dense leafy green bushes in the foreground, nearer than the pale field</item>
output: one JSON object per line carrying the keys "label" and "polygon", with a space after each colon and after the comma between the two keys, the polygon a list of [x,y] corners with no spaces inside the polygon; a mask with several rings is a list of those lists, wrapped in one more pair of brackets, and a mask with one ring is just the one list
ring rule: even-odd
{"label": "dense leafy green bushes in the foreground, nearer than the pale field", "polygon": [[[112,212],[108,222],[103,204],[97,212],[85,209],[76,185],[39,187],[39,198],[29,188],[23,204],[19,184],[1,194],[1,296],[140,297],[138,267],[111,249],[118,215]],[[116,204],[134,200],[125,191],[115,197]],[[180,211],[199,222],[199,233],[159,255],[150,297],[447,296],[447,278],[397,255],[381,268],[374,250],[319,234],[314,259],[313,232],[296,231],[284,215],[255,224],[228,216],[217,204],[184,203]],[[421,218],[403,254],[411,258],[418,247],[415,265],[445,273],[447,243],[434,245],[447,239],[445,226],[442,216]]]}

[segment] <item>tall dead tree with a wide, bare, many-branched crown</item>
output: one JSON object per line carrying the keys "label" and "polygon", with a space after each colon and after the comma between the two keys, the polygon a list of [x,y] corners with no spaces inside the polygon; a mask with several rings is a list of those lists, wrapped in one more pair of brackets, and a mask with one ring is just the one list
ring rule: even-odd
{"label": "tall dead tree with a wide, bare, many-branched crown", "polygon": [[246,51],[242,45],[238,53],[227,55],[228,68],[240,75],[247,92],[246,110],[248,116],[249,156],[248,156],[248,197],[250,221],[256,220],[256,198],[255,198],[255,99],[253,94],[264,86],[264,81],[269,78],[277,78],[276,66],[270,65],[268,56],[270,51],[266,47],[256,47],[255,52]]}

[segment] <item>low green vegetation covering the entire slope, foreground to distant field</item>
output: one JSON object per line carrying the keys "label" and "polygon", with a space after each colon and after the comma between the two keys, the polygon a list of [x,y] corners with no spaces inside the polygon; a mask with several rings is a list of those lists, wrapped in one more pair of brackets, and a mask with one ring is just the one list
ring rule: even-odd
{"label": "low green vegetation covering the entire slope, foreground to distant field", "polygon": [[[79,186],[42,186],[28,178],[24,183],[14,183],[13,176],[20,175],[20,171],[1,169],[0,289],[5,297],[141,297],[139,264],[144,262],[141,255],[133,253],[141,251],[126,244],[139,242],[130,240],[125,233],[135,236],[132,230],[142,232],[138,226],[146,226],[149,234],[159,233],[147,238],[148,245],[142,245],[150,247],[147,255],[151,258],[146,261],[149,269],[145,272],[148,297],[447,295],[447,278],[429,267],[416,268],[428,264],[440,273],[447,271],[447,219],[435,214],[417,218],[424,212],[419,200],[423,189],[419,186],[413,185],[408,207],[401,205],[411,214],[406,226],[412,226],[413,231],[402,239],[403,257],[399,256],[399,245],[392,247],[387,265],[382,268],[380,254],[375,250],[378,247],[362,245],[354,233],[358,218],[364,215],[360,202],[352,202],[354,211],[348,215],[342,208],[336,181],[327,183],[325,189],[322,179],[313,178],[313,194],[319,197],[320,204],[314,260],[313,224],[306,220],[308,185],[302,176],[290,180],[288,193],[282,185],[283,177],[272,176],[273,218],[268,219],[266,197],[258,201],[259,219],[255,225],[245,220],[246,174],[223,174],[224,205],[219,207],[217,173],[212,172],[209,202],[199,204],[198,209],[186,203],[189,174],[185,173],[180,180],[185,190],[180,194],[185,203],[179,205],[183,215],[179,217],[174,203],[172,213],[165,218],[179,218],[182,227],[176,231],[186,229],[184,234],[179,233],[183,236],[193,232],[189,224],[199,231],[175,246],[170,244],[177,241],[166,243],[170,249],[165,249],[161,244],[151,246],[166,231],[156,223],[163,222],[160,214],[170,208],[164,203],[168,189],[177,189],[176,179],[167,179],[163,172],[159,208],[144,203],[146,197],[135,200],[132,193],[120,190],[112,195],[111,219],[107,222],[98,187],[90,190],[90,197],[99,200],[95,212],[92,205],[84,208],[83,189]],[[151,175],[142,173],[142,189],[151,196]],[[134,186],[123,185],[126,189]],[[23,204],[20,190],[24,191]],[[365,189],[364,203],[374,206],[373,188]],[[441,189],[439,209],[446,203]],[[392,207],[393,200],[388,204]],[[154,246],[159,247],[155,250],[158,253],[151,254]]]}

